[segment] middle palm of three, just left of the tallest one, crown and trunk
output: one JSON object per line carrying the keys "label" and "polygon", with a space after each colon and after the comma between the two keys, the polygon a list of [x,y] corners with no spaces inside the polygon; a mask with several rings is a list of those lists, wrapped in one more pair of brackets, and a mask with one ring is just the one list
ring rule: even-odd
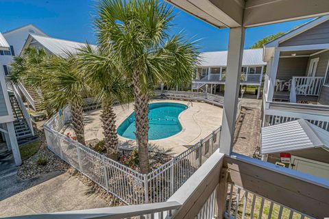
{"label": "middle palm of three, just left of the tallest one, crown and trunk", "polygon": [[114,101],[129,103],[130,87],[120,75],[120,66],[112,58],[112,50],[91,47],[89,44],[78,53],[78,70],[84,74],[86,82],[93,90],[97,101],[101,104],[101,127],[103,128],[104,145],[108,157],[117,159],[119,139],[115,125],[116,115],[113,110]]}

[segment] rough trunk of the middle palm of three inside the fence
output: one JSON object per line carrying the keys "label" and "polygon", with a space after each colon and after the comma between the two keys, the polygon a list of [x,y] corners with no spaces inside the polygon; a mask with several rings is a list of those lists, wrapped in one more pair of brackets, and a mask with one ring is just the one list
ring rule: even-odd
{"label": "rough trunk of the middle palm of three inside the fence", "polygon": [[117,127],[115,126],[116,115],[114,113],[112,104],[104,104],[101,112],[101,127],[103,127],[104,145],[108,157],[117,160],[118,158],[118,144]]}

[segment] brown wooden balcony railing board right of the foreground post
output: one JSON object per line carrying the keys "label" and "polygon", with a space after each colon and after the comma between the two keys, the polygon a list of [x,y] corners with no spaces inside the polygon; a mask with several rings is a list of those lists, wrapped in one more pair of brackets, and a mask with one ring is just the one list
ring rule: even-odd
{"label": "brown wooden balcony railing board right of the foreground post", "polygon": [[329,181],[243,155],[225,157],[229,181],[315,218],[328,217]]}

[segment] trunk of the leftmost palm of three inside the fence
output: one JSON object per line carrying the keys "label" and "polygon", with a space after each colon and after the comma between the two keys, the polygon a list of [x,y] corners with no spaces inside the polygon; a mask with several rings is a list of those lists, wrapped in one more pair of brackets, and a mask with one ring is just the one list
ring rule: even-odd
{"label": "trunk of the leftmost palm of three inside the fence", "polygon": [[77,141],[86,145],[84,140],[84,107],[82,105],[72,105],[72,125],[75,135],[77,135]]}

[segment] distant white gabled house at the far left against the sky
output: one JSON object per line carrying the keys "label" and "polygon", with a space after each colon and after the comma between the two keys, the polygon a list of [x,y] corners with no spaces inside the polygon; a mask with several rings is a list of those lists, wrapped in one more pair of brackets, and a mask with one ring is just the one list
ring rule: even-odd
{"label": "distant white gabled house at the far left against the sky", "polygon": [[3,32],[3,37],[10,46],[9,50],[0,50],[1,68],[3,68],[5,75],[8,75],[10,71],[10,63],[12,63],[14,56],[21,53],[29,34],[47,36],[45,32],[32,24]]}

